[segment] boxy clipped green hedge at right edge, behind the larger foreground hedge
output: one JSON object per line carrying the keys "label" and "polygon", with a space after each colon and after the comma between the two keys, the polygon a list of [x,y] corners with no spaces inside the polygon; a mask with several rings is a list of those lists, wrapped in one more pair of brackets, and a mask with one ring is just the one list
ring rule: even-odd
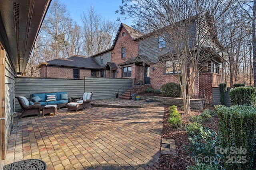
{"label": "boxy clipped green hedge at right edge, behind the larger foreground hedge", "polygon": [[256,88],[237,87],[229,92],[232,105],[256,106]]}

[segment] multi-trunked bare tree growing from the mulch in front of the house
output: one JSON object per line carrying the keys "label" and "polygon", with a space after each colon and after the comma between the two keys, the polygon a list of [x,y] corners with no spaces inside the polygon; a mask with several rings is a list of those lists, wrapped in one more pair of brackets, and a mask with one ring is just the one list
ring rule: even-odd
{"label": "multi-trunked bare tree growing from the mulch in front of the house", "polygon": [[[232,1],[226,0],[122,0],[120,14],[134,18],[134,27],[148,36],[164,39],[159,61],[174,65],[182,89],[184,113],[190,112],[194,83],[212,56],[221,58],[216,25]],[[143,54],[142,54],[143,55]],[[163,62],[165,61],[165,63]],[[177,76],[180,73],[180,76]]]}

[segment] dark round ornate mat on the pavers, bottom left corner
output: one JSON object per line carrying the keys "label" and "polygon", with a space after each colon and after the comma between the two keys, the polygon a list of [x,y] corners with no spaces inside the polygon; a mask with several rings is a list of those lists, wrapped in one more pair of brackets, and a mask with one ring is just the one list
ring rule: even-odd
{"label": "dark round ornate mat on the pavers, bottom left corner", "polygon": [[39,159],[27,159],[5,165],[4,170],[46,170],[46,163]]}

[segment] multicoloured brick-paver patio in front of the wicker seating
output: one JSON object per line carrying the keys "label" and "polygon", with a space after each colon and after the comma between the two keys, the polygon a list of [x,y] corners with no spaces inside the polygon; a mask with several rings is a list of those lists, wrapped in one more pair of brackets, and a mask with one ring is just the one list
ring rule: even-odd
{"label": "multicoloured brick-paver patio in front of the wicker seating", "polygon": [[160,156],[164,107],[147,107],[145,101],[104,102],[144,107],[102,105],[77,113],[62,108],[52,116],[15,117],[5,164],[42,159],[47,170],[150,169]]}

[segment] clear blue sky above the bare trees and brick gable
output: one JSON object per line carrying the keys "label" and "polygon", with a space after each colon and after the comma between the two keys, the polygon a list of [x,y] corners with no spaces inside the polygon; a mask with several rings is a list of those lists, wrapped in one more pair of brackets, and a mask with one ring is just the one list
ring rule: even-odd
{"label": "clear blue sky above the bare trees and brick gable", "polygon": [[[70,15],[78,25],[82,26],[81,15],[87,13],[88,8],[92,5],[97,14],[104,17],[106,20],[116,21],[119,14],[115,14],[119,6],[122,5],[122,0],[59,0],[61,4],[65,4]],[[121,20],[122,23],[131,26],[132,20]],[[120,23],[120,21],[119,21]]]}

